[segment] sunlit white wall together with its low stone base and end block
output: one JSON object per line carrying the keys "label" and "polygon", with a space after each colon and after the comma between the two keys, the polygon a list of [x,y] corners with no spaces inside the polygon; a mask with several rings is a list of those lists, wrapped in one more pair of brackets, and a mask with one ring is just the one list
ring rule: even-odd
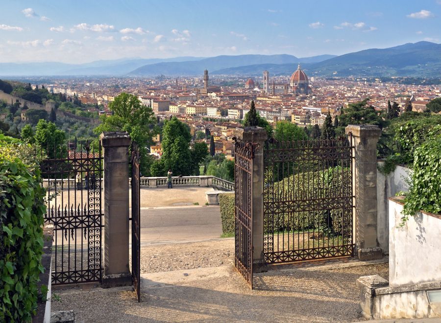
{"label": "sunlit white wall together with its low stone base and end block", "polygon": [[389,204],[389,282],[357,280],[362,314],[372,319],[441,318],[441,215],[417,212],[404,225],[401,198]]}

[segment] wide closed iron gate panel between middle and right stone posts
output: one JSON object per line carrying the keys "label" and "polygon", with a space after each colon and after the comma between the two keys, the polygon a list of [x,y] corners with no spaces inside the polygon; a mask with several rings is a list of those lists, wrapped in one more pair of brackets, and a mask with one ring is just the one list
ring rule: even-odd
{"label": "wide closed iron gate panel between middle and right stone posts", "polygon": [[267,263],[352,255],[352,148],[351,136],[266,142]]}

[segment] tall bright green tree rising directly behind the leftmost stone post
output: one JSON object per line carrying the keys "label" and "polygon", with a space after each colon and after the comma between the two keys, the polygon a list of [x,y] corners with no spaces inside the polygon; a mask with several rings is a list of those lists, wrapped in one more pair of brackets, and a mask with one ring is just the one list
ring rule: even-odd
{"label": "tall bright green tree rising directly behind the leftmost stone post", "polygon": [[109,104],[111,116],[101,116],[101,124],[94,130],[99,135],[103,131],[127,131],[140,151],[141,173],[149,175],[153,160],[148,155],[147,147],[152,144],[152,137],[159,133],[153,110],[141,104],[136,95],[121,93]]}

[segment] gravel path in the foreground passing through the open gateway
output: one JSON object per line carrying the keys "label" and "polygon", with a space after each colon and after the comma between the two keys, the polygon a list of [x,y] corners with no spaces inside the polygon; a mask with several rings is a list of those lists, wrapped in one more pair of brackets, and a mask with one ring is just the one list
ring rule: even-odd
{"label": "gravel path in the foreground passing through the open gateway", "polygon": [[76,322],[354,322],[363,320],[357,278],[388,276],[387,263],[282,265],[255,274],[251,291],[230,263],[233,244],[144,247],[141,303],[130,287],[55,290],[52,311],[73,309]]}

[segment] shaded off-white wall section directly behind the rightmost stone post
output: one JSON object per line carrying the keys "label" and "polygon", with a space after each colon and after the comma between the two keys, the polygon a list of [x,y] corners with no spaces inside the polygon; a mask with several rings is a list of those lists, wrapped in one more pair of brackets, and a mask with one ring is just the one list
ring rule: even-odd
{"label": "shaded off-white wall section directly behind the rightmost stone post", "polygon": [[[383,165],[384,162],[378,161],[377,164]],[[386,255],[389,253],[389,197],[395,196],[400,191],[409,191],[405,181],[409,173],[409,168],[400,165],[387,175],[377,172],[377,237]]]}

